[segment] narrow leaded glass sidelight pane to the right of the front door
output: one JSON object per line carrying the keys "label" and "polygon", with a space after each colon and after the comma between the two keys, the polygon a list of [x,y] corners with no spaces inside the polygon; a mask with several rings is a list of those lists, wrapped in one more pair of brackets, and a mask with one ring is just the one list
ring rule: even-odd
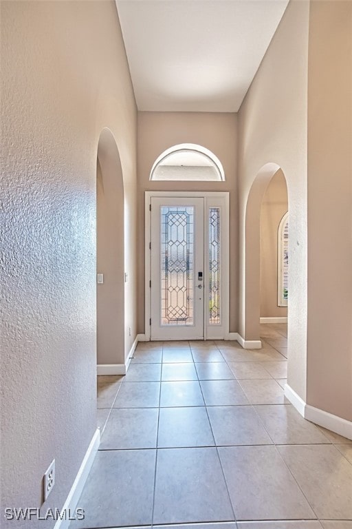
{"label": "narrow leaded glass sidelight pane to the right of the front door", "polygon": [[209,208],[209,324],[220,324],[220,208]]}

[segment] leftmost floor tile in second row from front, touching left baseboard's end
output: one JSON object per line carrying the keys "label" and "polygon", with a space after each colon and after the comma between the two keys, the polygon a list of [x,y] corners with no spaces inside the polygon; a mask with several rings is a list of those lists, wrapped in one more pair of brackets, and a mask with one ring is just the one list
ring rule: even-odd
{"label": "leftmost floor tile in second row from front, touching left baseboard's end", "polygon": [[100,450],[156,448],[157,408],[113,408],[100,442]]}

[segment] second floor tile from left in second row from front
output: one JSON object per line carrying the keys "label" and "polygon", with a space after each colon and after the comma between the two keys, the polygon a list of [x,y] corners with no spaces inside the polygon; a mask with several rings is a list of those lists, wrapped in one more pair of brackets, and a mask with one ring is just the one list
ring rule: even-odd
{"label": "second floor tile from left in second row from front", "polygon": [[157,446],[214,446],[206,408],[160,408]]}

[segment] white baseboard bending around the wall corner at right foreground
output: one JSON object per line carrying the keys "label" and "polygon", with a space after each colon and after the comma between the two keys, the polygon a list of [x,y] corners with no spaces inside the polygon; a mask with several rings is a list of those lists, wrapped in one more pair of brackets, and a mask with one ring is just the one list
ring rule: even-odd
{"label": "white baseboard bending around the wall corner at right foreground", "polygon": [[342,435],[342,437],[352,439],[351,421],[347,421],[347,419],[342,419],[342,417],[338,417],[338,415],[333,415],[327,411],[320,410],[320,408],[314,408],[314,406],[306,404],[288,384],[285,384],[285,397],[287,397],[289,402],[294,405],[300,415],[305,417],[307,421],[323,426],[323,428],[338,433],[339,435]]}

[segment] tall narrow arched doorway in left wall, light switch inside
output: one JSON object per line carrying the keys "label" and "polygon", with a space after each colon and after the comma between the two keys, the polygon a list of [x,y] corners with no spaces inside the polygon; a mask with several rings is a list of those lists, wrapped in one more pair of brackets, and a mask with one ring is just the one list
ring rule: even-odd
{"label": "tall narrow arched doorway in left wall, light switch inside", "polygon": [[107,128],[98,143],[96,209],[98,374],[116,375],[124,366],[124,183]]}

